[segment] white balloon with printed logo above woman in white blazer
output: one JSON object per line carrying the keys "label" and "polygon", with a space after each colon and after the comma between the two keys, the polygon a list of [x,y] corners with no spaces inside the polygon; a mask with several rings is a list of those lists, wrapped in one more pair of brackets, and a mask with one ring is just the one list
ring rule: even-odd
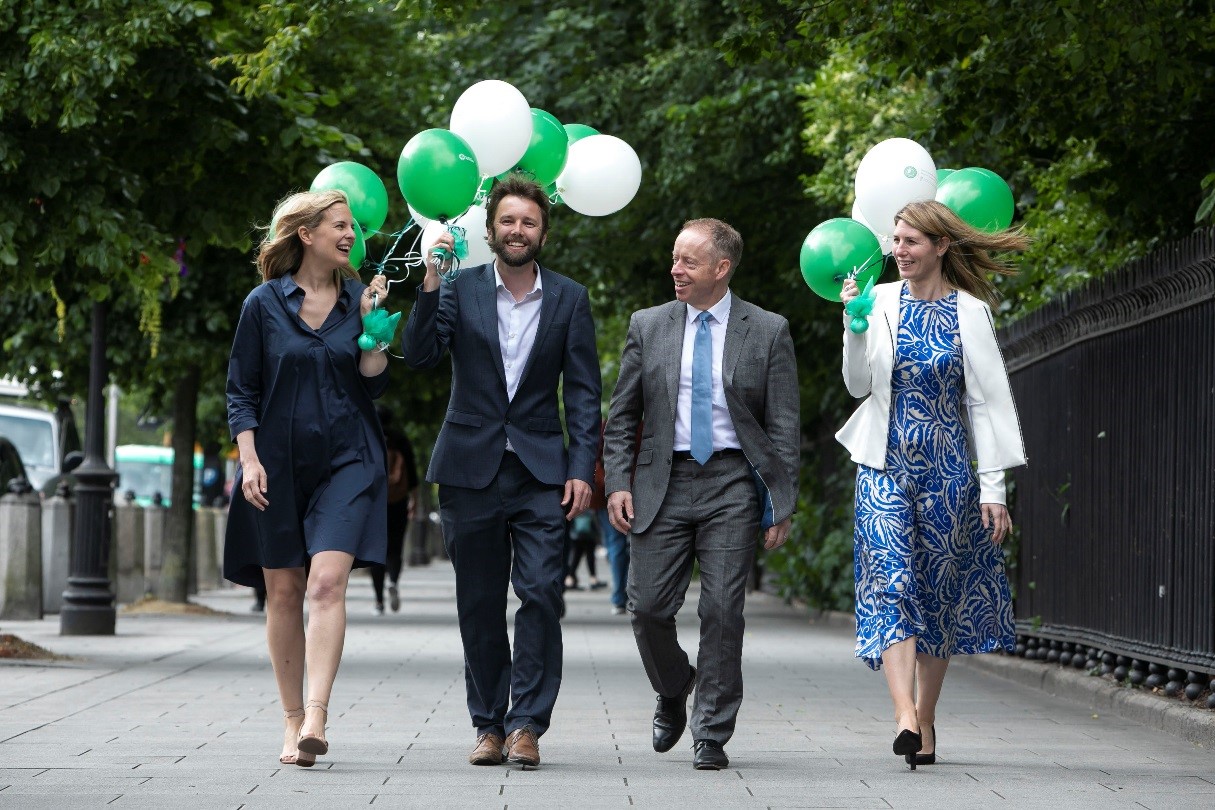
{"label": "white balloon with printed logo above woman in white blazer", "polygon": [[866,225],[878,237],[888,237],[904,205],[937,196],[937,164],[915,141],[887,138],[861,158],[855,189]]}

